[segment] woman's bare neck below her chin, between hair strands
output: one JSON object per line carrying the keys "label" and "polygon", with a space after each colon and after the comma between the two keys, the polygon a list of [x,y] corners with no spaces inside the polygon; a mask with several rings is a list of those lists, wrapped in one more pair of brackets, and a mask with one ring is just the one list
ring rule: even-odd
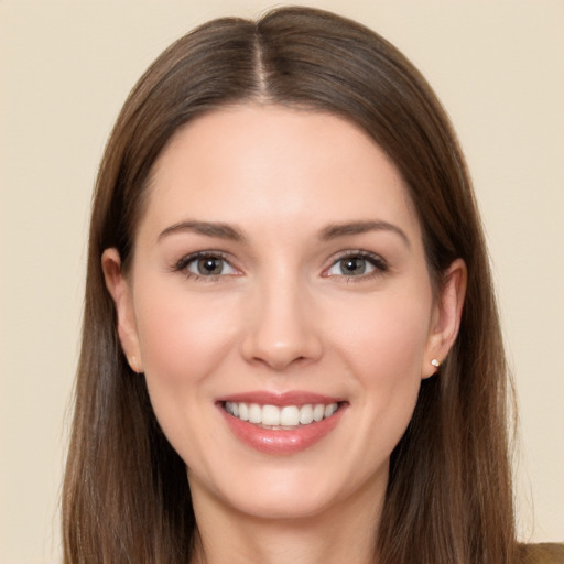
{"label": "woman's bare neck below her chin, between hair strands", "polygon": [[263,519],[226,508],[196,488],[192,564],[375,564],[383,495],[367,499],[366,492],[359,492],[357,499],[315,516]]}

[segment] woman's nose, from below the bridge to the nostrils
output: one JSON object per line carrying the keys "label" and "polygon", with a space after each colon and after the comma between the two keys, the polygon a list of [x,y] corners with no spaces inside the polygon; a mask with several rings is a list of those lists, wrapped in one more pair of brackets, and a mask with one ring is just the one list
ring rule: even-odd
{"label": "woman's nose, from below the bridge to the nostrils", "polygon": [[278,281],[257,289],[248,307],[242,356],[282,371],[315,362],[323,354],[311,296],[299,283]]}

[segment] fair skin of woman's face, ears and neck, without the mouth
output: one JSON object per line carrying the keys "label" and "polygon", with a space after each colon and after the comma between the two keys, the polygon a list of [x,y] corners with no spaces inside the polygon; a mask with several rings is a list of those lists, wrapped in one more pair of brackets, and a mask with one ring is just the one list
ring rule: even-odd
{"label": "fair skin of woman's face, ears and neck, without the mouth", "polygon": [[[458,330],[464,263],[436,295],[400,174],[328,113],[243,105],[200,117],[164,150],[150,191],[130,272],[116,249],[102,267],[124,352],[187,465],[196,561],[371,562],[390,453]],[[186,221],[240,237],[177,228]],[[367,221],[380,224],[334,228]],[[225,257],[215,275],[189,262],[202,251]],[[267,454],[217,405],[257,390],[345,408],[311,447]]]}

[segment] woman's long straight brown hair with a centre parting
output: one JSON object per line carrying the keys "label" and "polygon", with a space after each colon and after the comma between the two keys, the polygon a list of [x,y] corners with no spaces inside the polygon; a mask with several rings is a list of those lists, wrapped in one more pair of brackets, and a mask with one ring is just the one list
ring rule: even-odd
{"label": "woman's long straight brown hair with a centre parting", "polygon": [[245,101],[325,110],[361,127],[409,186],[432,279],[468,268],[457,341],[424,380],[392,453],[375,531],[378,562],[513,562],[508,375],[488,258],[451,123],[386,40],[328,12],[283,8],[220,19],[169,47],[132,90],[109,139],[91,215],[83,344],[63,499],[65,562],[185,563],[195,530],[185,466],[144,380],[121,351],[100,265],[128,269],[155,159],[195,116]]}

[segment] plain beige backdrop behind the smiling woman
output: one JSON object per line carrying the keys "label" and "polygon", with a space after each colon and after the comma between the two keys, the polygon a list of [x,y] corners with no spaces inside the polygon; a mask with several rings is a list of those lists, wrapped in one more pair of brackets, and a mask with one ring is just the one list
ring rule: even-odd
{"label": "plain beige backdrop behind the smiling woman", "polygon": [[[453,118],[487,225],[521,404],[521,536],[564,540],[564,2],[310,3],[394,42]],[[61,562],[86,223],[112,121],[174,39],[212,17],[269,6],[0,0],[1,564]]]}

